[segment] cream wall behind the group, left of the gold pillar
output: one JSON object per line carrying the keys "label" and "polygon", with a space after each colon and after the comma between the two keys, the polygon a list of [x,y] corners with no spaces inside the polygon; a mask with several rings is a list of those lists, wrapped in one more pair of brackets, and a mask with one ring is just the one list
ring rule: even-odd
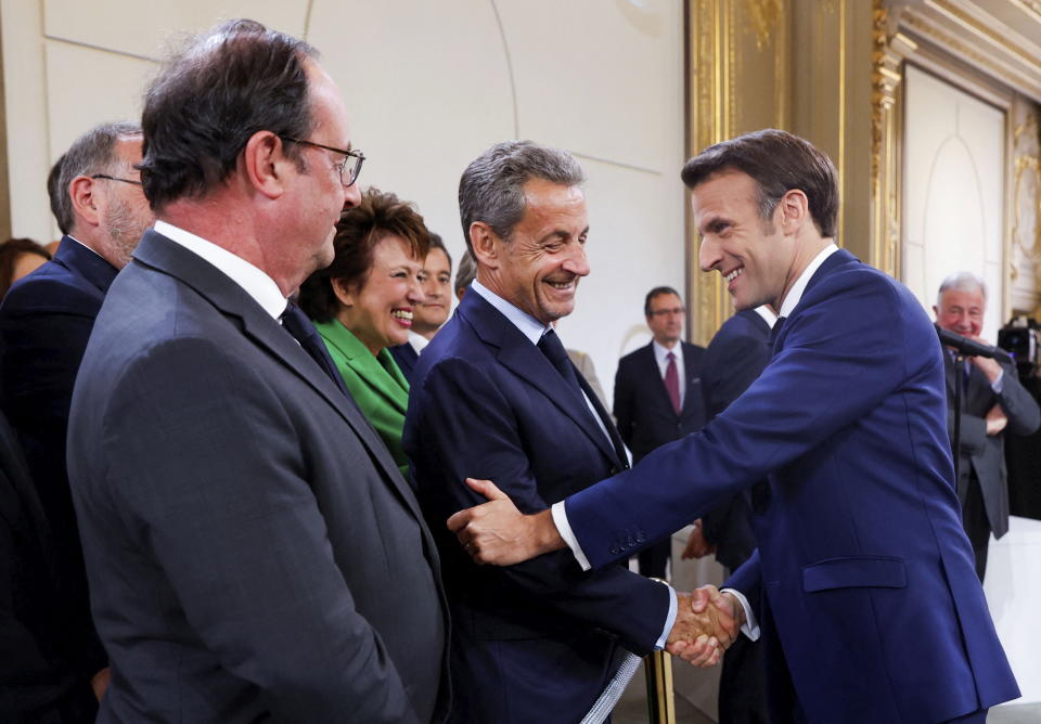
{"label": "cream wall behind the group, left of the gold pillar", "polygon": [[44,185],[82,131],[134,117],[171,39],[249,16],[323,55],[369,160],[364,184],[414,201],[463,251],[459,174],[511,138],[586,169],[592,274],[561,334],[608,396],[648,339],[643,295],[684,283],[683,22],[678,0],[0,0],[12,227],[55,238]]}

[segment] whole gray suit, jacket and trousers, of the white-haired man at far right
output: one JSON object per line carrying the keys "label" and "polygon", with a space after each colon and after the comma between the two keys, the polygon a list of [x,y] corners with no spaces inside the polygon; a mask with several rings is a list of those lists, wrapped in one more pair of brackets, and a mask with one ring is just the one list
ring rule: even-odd
{"label": "whole gray suit, jacket and trousers, of the white-haired man at far right", "polygon": [[[948,432],[954,438],[954,360],[943,354],[949,408]],[[958,474],[958,497],[962,503],[965,533],[973,544],[976,573],[984,580],[987,571],[987,548],[990,534],[1001,538],[1008,531],[1008,483],[1005,471],[1005,432],[1030,435],[1041,423],[1041,413],[1033,397],[1019,384],[1016,370],[1003,364],[1002,390],[997,395],[990,380],[976,365],[968,365],[968,380],[963,388],[961,424],[961,460]],[[964,378],[964,377],[963,377]],[[1008,417],[1008,426],[998,435],[987,435],[987,413],[1000,404]]]}

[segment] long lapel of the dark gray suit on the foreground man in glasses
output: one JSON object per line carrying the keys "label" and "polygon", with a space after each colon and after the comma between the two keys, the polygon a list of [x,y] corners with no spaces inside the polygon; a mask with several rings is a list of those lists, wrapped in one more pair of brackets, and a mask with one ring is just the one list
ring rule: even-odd
{"label": "long lapel of the dark gray suit on the foreground man in glasses", "polygon": [[282,362],[290,372],[304,379],[339,413],[369,450],[373,461],[384,468],[386,477],[412,514],[422,519],[415,496],[408,489],[408,483],[369,421],[362,416],[354,401],[339,391],[311,355],[246,294],[245,289],[209,262],[152,230],[141,240],[133,258],[137,262],[180,280],[222,314],[240,320],[243,334]]}

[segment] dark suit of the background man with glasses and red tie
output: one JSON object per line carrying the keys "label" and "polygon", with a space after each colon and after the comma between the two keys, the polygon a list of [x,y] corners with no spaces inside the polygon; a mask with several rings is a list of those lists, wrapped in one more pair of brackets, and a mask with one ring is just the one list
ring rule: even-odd
{"label": "dark suit of the background man with glasses and red tie", "polygon": [[[635,463],[666,442],[702,429],[707,419],[698,377],[705,348],[685,341],[680,344],[683,346],[680,385],[684,389],[680,414],[676,413],[665,388],[661,371],[654,358],[653,341],[618,361],[615,419],[618,421],[618,432],[632,451]],[[666,538],[641,551],[640,572],[665,578],[670,546],[670,540]]]}

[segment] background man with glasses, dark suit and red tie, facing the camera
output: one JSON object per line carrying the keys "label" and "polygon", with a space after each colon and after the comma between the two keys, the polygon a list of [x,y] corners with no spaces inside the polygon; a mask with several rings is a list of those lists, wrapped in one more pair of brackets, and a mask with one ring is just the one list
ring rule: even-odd
{"label": "background man with glasses, dark suit and red tie, facing the camera", "polygon": [[[644,299],[643,313],[654,338],[621,358],[615,374],[615,418],[634,463],[705,425],[698,378],[705,348],[681,339],[686,309],[680,293],[656,286]],[[666,536],[641,551],[640,572],[664,579],[671,546]]]}

